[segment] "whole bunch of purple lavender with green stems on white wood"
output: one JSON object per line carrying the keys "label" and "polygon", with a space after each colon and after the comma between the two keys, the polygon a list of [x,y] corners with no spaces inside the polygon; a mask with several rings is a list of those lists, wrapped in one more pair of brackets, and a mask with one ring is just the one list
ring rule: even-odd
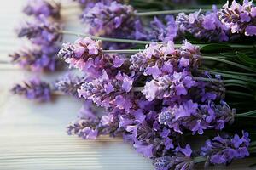
{"label": "whole bunch of purple lavender with green stems on white wood", "polygon": [[[254,156],[253,2],[209,8],[189,1],[187,9],[180,8],[185,1],[77,3],[83,8],[79,18],[88,27],[84,33],[64,30],[50,19],[61,17],[60,5],[30,3],[25,12],[37,18],[18,35],[39,49],[11,57],[25,68],[50,71],[61,59],[81,74],[67,74],[51,84],[18,84],[15,94],[39,101],[56,93],[83,99],[68,134],[122,137],[151,159],[156,170],[193,169],[203,162],[205,167],[229,165]],[[55,53],[56,42],[67,34],[79,38]]]}

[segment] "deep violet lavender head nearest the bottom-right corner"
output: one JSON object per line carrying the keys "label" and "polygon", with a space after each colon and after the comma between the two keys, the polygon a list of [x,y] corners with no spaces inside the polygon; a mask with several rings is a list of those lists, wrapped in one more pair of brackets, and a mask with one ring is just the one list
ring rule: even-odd
{"label": "deep violet lavender head nearest the bottom-right corner", "polygon": [[246,132],[242,132],[241,138],[238,134],[233,138],[229,135],[217,136],[207,140],[205,146],[201,148],[201,156],[207,156],[208,161],[213,164],[228,164],[232,160],[249,156],[247,150],[249,142]]}

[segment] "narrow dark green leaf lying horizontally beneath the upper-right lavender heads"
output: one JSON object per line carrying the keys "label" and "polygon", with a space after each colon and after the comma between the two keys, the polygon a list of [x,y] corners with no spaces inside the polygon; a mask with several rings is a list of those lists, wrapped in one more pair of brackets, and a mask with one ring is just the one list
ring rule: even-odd
{"label": "narrow dark green leaf lying horizontally beneath the upper-right lavender heads", "polygon": [[223,43],[211,43],[211,44],[207,44],[207,45],[202,45],[201,46],[201,52],[223,52],[226,50],[231,49],[231,47],[227,44],[223,44]]}

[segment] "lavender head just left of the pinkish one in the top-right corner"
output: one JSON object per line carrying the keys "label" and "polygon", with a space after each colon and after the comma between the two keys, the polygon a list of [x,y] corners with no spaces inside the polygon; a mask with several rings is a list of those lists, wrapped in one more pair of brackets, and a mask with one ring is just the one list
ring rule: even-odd
{"label": "lavender head just left of the pinkish one in the top-right corner", "polygon": [[229,29],[218,20],[217,9],[213,8],[213,12],[200,14],[201,11],[193,14],[180,13],[176,22],[179,30],[189,32],[193,36],[215,42],[228,41]]}

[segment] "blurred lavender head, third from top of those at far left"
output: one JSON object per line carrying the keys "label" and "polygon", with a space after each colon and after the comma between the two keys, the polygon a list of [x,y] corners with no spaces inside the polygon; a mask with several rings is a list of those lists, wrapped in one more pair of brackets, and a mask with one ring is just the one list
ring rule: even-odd
{"label": "blurred lavender head, third from top of those at far left", "polygon": [[59,66],[60,60],[57,59],[56,53],[58,47],[33,47],[23,48],[19,52],[10,54],[12,63],[31,71],[55,71]]}

